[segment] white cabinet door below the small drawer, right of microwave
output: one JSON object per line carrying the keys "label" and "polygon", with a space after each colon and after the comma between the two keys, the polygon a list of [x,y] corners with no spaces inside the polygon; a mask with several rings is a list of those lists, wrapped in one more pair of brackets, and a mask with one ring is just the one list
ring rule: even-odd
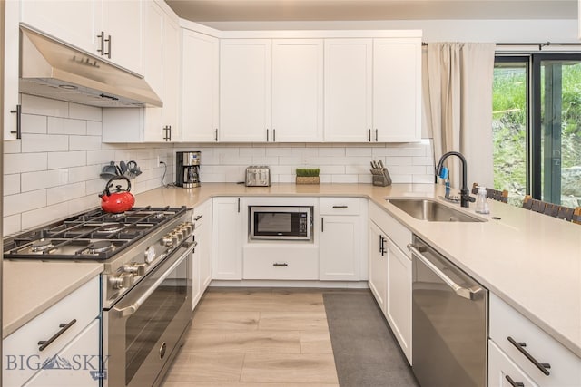
{"label": "white cabinet door below the small drawer, right of microwave", "polygon": [[361,246],[358,216],[320,218],[320,280],[359,281]]}

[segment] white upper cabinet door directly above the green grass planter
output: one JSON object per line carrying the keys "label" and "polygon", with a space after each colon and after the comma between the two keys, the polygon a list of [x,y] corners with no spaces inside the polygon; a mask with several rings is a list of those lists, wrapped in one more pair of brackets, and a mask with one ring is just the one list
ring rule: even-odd
{"label": "white upper cabinet door directly above the green grass planter", "polygon": [[272,41],[272,141],[322,140],[323,44]]}

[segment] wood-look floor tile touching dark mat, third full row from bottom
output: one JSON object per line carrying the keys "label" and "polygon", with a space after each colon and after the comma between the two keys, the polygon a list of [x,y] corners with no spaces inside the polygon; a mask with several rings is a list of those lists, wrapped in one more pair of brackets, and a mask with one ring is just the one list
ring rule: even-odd
{"label": "wood-look floor tile touching dark mat, third full row from bottom", "polygon": [[259,329],[277,331],[327,330],[325,312],[261,312]]}

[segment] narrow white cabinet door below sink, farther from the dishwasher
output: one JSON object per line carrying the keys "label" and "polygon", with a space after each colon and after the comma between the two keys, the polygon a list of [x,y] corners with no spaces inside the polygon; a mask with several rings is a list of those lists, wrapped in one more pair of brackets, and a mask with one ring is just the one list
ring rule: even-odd
{"label": "narrow white cabinet door below sink, farther from the dishwasher", "polygon": [[388,250],[385,234],[373,222],[369,222],[369,289],[375,295],[385,314],[388,285]]}

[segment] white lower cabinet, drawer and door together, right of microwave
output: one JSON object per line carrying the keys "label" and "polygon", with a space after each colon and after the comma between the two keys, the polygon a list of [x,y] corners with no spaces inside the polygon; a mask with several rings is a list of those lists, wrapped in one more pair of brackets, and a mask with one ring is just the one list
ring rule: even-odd
{"label": "white lower cabinet, drawer and door together, right of microwave", "polygon": [[360,198],[320,198],[319,279],[359,281],[361,261],[367,256],[367,214]]}

